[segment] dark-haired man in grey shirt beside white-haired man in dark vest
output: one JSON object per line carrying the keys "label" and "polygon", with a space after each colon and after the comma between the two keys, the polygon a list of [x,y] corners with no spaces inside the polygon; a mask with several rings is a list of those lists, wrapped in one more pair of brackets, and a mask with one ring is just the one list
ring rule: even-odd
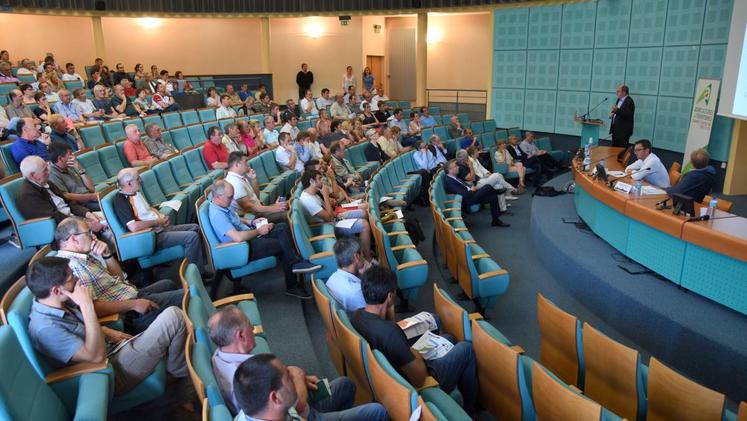
{"label": "dark-haired man in grey shirt beside white-haired man in dark vest", "polygon": [[96,187],[85,168],[73,155],[67,143],[52,142],[49,145],[49,181],[62,193],[68,202],[81,204],[92,211],[100,211]]}

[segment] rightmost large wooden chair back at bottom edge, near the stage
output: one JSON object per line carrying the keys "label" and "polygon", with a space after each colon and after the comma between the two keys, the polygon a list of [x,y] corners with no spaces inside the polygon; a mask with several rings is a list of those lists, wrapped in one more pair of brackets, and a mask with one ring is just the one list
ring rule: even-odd
{"label": "rightmost large wooden chair back at bottom edge, near the stage", "polygon": [[726,398],[651,357],[647,421],[720,421]]}

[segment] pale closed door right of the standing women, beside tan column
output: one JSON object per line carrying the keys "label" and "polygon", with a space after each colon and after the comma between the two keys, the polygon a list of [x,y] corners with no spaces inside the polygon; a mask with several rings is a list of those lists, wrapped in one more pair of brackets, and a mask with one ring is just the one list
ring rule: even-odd
{"label": "pale closed door right of the standing women, beside tan column", "polygon": [[387,96],[400,101],[415,99],[415,28],[392,28],[387,55]]}

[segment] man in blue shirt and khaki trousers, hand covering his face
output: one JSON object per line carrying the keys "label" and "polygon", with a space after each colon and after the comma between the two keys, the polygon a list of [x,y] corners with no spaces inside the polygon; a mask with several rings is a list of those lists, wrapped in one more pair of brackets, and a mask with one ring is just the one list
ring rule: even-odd
{"label": "man in blue shirt and khaki trousers, hand covering his face", "polygon": [[179,307],[164,310],[140,336],[99,325],[91,292],[79,285],[62,257],[42,257],[29,265],[26,285],[36,297],[29,315],[34,348],[54,367],[101,363],[114,368],[114,394],[129,392],[151,375],[161,360],[174,377],[187,376],[187,329]]}

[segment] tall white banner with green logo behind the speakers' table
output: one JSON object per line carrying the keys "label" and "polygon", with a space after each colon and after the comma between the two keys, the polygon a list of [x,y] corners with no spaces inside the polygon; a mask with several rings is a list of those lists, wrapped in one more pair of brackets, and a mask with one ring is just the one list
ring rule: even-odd
{"label": "tall white banner with green logo behind the speakers' table", "polygon": [[721,85],[720,79],[698,79],[693,98],[693,113],[690,117],[690,129],[687,131],[687,144],[685,145],[685,157],[683,160],[682,173],[690,170],[690,153],[692,151],[708,146],[713,128],[713,119],[716,114],[716,103]]}

